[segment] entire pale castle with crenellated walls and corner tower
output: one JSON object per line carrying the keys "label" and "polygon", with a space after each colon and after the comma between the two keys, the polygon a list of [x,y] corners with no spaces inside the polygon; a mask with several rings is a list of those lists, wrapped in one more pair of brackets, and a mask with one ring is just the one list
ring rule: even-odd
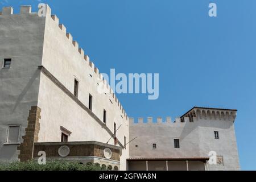
{"label": "entire pale castle with crenellated walls and corner tower", "polygon": [[[112,170],[239,170],[237,110],[193,107],[134,122],[46,5],[0,13],[0,160],[98,163]],[[104,82],[109,93],[97,91]],[[216,152],[210,164],[209,152]]]}

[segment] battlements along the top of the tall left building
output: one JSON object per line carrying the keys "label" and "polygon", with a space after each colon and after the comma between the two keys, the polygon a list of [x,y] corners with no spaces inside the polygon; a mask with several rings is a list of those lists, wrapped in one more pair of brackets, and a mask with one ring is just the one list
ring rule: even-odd
{"label": "battlements along the top of the tall left building", "polygon": [[[14,13],[13,7],[3,7],[2,11],[0,12],[0,16],[13,15],[13,13]],[[20,14],[16,14],[16,15],[21,15],[21,16],[22,15],[38,15],[38,13],[32,13],[31,6],[28,5],[28,6],[20,6]],[[100,89],[105,90],[104,91],[105,94],[108,94],[110,97],[108,99],[110,99],[113,104],[114,104],[114,102],[115,102],[115,104],[117,104],[121,113],[124,115],[126,120],[128,120],[128,116],[127,116],[125,110],[123,109],[123,106],[118,101],[117,96],[115,96],[115,94],[113,93],[113,90],[110,88],[109,83],[106,82],[106,80],[104,80],[104,77],[101,75],[98,68],[94,65],[93,61],[91,61],[90,57],[85,54],[84,49],[79,47],[79,43],[76,40],[73,40],[72,34],[67,32],[67,28],[64,26],[64,24],[60,24],[60,20],[57,17],[57,15],[51,14],[51,8],[48,5],[46,5],[46,16],[45,17],[42,16],[42,18],[46,18],[46,19],[50,18],[56,24],[56,26],[59,27],[59,29],[63,32],[65,37],[67,37],[69,42],[72,44],[75,51],[77,51],[77,53],[79,53],[81,55],[82,59],[85,61],[85,63],[88,65],[88,67],[92,70],[92,73],[94,73],[94,75],[91,75],[91,76],[96,77],[97,86],[101,87]],[[102,94],[104,94],[104,93],[102,93]]]}

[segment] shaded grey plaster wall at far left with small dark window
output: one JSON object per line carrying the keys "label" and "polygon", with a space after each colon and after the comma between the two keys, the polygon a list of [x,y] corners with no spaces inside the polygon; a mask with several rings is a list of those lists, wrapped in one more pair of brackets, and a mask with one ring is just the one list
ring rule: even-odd
{"label": "shaded grey plaster wall at far left with small dark window", "polygon": [[[5,144],[7,125],[21,126],[22,142],[28,112],[38,102],[44,20],[29,13],[0,15],[0,160],[18,159],[17,144]],[[5,58],[11,58],[11,68],[2,68]]]}

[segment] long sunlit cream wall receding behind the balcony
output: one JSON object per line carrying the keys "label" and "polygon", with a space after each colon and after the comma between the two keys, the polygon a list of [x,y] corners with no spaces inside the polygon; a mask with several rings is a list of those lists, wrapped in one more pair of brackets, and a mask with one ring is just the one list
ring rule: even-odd
{"label": "long sunlit cream wall receding behind the balcony", "polygon": [[[78,98],[82,104],[88,107],[90,93],[93,96],[93,113],[103,121],[105,109],[107,111],[106,126],[114,132],[114,122],[117,128],[122,125],[117,131],[117,138],[123,144],[123,138],[126,136],[126,142],[129,142],[129,121],[126,115],[122,113],[112,94],[97,92],[97,83],[100,82],[98,73],[94,72],[93,66],[90,67],[84,55],[79,53],[79,47],[75,47],[72,40],[67,38],[65,29],[59,28],[59,20],[51,18],[49,7],[47,9],[43,67],[72,93],[74,79],[77,78]],[[113,104],[109,100],[112,100]],[[111,137],[85,110],[43,74],[40,81],[38,106],[42,109],[39,142],[60,141],[60,126],[72,132],[69,141],[96,140],[106,143]],[[111,139],[109,144],[114,144],[114,140]],[[121,170],[126,169],[128,157],[129,147],[122,151]]]}

